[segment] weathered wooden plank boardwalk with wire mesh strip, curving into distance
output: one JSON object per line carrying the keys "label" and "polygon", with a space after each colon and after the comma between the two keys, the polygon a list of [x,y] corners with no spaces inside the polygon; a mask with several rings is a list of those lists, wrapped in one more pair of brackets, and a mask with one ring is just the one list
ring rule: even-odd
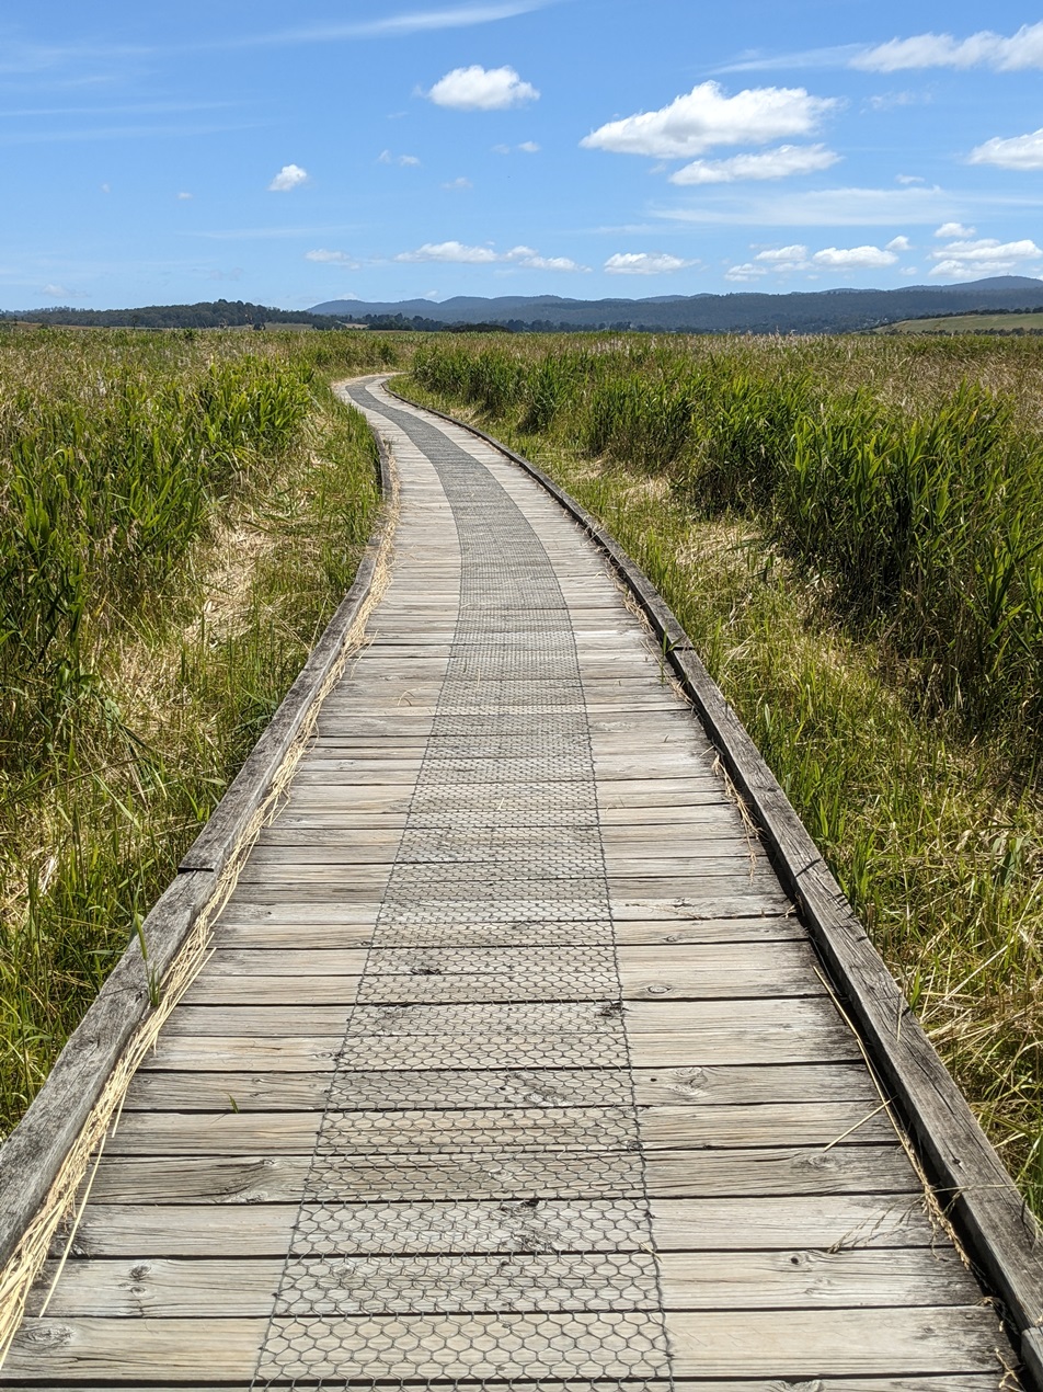
{"label": "weathered wooden plank boardwalk with wire mesh strip, curving into distance", "polygon": [[0,1386],[1017,1386],[601,555],[350,393],[402,482],[371,642]]}

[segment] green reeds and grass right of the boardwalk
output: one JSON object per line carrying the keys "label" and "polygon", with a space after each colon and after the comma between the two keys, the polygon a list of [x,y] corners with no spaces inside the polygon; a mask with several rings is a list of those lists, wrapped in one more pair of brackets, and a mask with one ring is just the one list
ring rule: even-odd
{"label": "green reeds and grass right of the boardwalk", "polygon": [[644,567],[1043,1212],[1043,344],[430,340]]}

